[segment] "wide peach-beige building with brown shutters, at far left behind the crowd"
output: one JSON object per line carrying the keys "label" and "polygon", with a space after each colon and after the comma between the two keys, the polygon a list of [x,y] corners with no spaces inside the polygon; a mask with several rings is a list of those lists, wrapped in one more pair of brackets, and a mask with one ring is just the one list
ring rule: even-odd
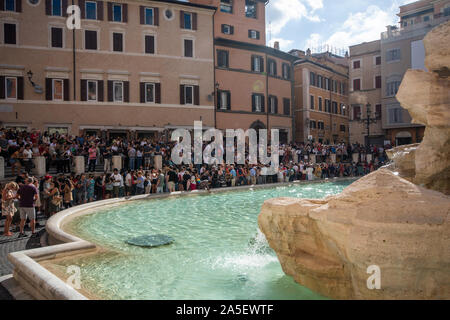
{"label": "wide peach-beige building with brown shutters, at far left behind the crowd", "polygon": [[75,0],[73,31],[67,0],[0,4],[0,125],[108,137],[214,126],[214,7]]}

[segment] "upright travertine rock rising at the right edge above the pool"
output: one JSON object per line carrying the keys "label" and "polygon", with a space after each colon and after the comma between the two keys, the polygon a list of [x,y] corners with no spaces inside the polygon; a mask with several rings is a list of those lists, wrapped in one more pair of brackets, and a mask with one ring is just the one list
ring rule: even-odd
{"label": "upright travertine rock rising at the right edge above the pool", "polygon": [[[430,72],[408,70],[396,96],[412,122],[426,126],[423,141],[415,151],[412,181],[445,194],[450,194],[450,78],[446,76],[450,69],[449,41],[450,22],[425,36],[426,67]],[[403,160],[402,156],[396,158],[396,164]]]}

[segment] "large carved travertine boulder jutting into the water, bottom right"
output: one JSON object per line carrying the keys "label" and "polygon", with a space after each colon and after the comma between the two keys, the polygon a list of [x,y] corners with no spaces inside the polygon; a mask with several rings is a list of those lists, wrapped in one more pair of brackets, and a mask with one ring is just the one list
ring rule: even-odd
{"label": "large carved travertine boulder jutting into the water, bottom right", "polygon": [[267,200],[258,223],[284,272],[324,296],[450,299],[449,213],[449,197],[380,169],[324,200]]}

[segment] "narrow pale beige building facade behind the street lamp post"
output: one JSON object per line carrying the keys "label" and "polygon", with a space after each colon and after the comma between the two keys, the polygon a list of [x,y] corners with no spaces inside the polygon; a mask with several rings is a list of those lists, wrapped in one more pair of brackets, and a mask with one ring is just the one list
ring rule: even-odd
{"label": "narrow pale beige building facade behind the street lamp post", "polygon": [[[382,128],[381,101],[381,44],[380,40],[361,43],[350,47],[349,61],[349,128],[350,143],[363,145],[383,145],[385,136]],[[361,119],[367,119],[367,104],[370,105],[369,118],[375,123],[369,124]]]}

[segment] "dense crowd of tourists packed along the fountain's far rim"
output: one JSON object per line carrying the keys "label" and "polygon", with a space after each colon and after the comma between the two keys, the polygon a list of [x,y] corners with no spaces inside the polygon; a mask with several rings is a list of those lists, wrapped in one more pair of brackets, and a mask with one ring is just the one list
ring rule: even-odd
{"label": "dense crowd of tourists packed along the fountain's far rim", "polygon": [[[27,219],[34,232],[37,212],[50,217],[64,208],[112,197],[357,177],[376,170],[386,160],[384,149],[377,146],[289,144],[280,146],[278,171],[267,175],[268,166],[248,161],[242,165],[175,165],[170,157],[173,146],[174,142],[147,138],[107,140],[0,129],[1,156],[17,176],[2,188],[4,235],[11,235],[11,224],[17,224],[23,235]],[[352,161],[354,153],[359,154],[358,162]],[[367,161],[369,154],[371,161]],[[88,172],[75,174],[73,157],[80,155],[86,159]],[[161,161],[156,165],[158,155]],[[46,160],[47,174],[42,178],[31,176],[36,156]],[[113,156],[122,157],[123,169],[112,167]],[[98,165],[103,172],[95,172]],[[51,167],[57,171],[53,176],[48,173]]]}

